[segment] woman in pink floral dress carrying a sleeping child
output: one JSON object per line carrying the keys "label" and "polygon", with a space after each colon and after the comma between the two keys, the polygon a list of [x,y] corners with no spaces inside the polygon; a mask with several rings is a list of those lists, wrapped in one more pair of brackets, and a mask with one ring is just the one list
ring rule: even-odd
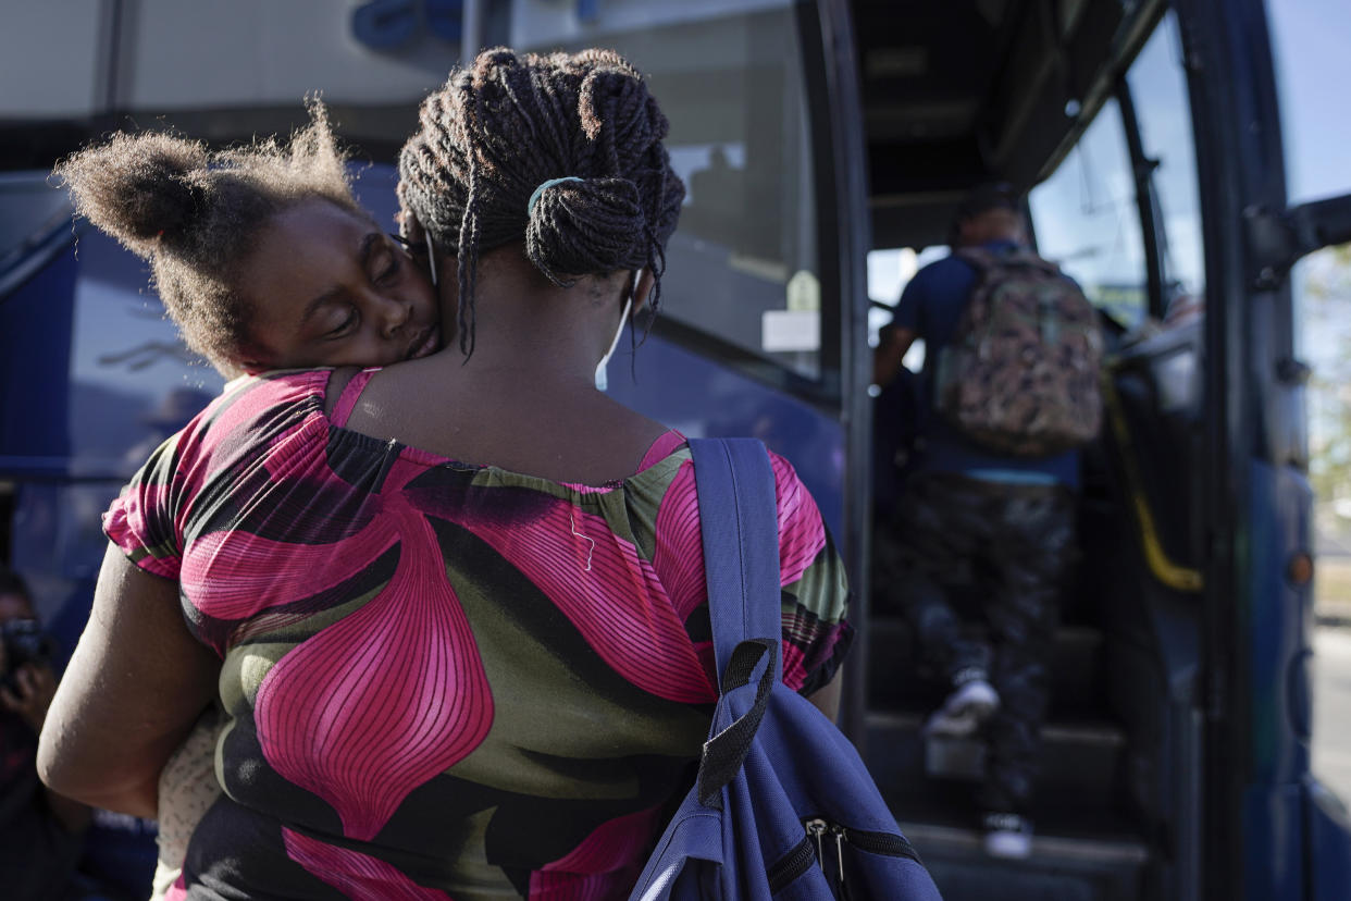
{"label": "woman in pink floral dress carrying a sleeping child", "polygon": [[[612,53],[453,73],[399,193],[458,347],[243,380],[113,505],[41,765],[153,812],[219,693],[224,793],[186,897],[627,897],[716,698],[689,451],[596,389],[659,299],[666,128]],[[349,236],[297,209],[231,290],[328,296],[301,261]],[[773,462],[784,677],[830,708],[843,567]]]}

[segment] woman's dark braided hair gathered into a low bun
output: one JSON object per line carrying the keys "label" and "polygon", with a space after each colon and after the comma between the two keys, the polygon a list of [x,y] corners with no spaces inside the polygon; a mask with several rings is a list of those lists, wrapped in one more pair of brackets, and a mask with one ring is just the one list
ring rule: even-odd
{"label": "woman's dark braided hair gathered into a low bun", "polygon": [[399,157],[399,200],[458,255],[465,354],[478,254],[511,242],[562,288],[648,267],[655,309],[685,185],[662,145],[666,116],[623,57],[485,50],[423,101],[420,122]]}

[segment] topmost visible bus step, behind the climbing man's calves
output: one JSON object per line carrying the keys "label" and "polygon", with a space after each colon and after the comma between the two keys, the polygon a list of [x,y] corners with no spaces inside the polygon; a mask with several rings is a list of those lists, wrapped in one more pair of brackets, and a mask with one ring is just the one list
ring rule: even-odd
{"label": "topmost visible bus step, behind the climbing man's calves", "polygon": [[[869,624],[869,706],[929,709],[942,701],[942,686],[919,666],[909,627],[897,617]],[[1102,631],[1092,625],[1062,625],[1051,657],[1051,716],[1077,716],[1108,709]]]}

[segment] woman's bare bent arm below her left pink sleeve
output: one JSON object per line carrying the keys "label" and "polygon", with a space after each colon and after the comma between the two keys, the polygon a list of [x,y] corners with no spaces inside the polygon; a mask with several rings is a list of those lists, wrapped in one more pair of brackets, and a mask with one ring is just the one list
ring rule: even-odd
{"label": "woman's bare bent arm below her left pink sleeve", "polygon": [[176,582],[108,547],[93,611],[38,744],[61,794],[154,817],[157,781],[216,690],[220,661],[188,634]]}

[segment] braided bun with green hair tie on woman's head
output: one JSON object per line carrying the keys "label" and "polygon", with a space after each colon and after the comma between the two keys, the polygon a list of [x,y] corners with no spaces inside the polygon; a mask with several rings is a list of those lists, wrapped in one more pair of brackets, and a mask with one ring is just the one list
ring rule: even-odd
{"label": "braided bun with green hair tie on woman's head", "polygon": [[526,254],[555,285],[647,265],[647,220],[628,178],[566,178],[530,209]]}

